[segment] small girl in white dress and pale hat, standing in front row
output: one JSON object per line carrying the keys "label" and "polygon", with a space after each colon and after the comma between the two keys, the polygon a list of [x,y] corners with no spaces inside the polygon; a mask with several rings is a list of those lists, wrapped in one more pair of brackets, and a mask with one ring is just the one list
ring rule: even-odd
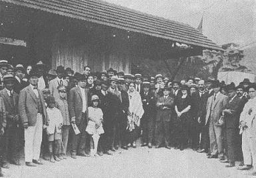
{"label": "small girl in white dress and pale hat, standing in front row", "polygon": [[100,134],[104,133],[102,122],[103,122],[103,112],[98,108],[99,99],[97,95],[92,95],[92,107],[88,107],[88,125],[86,127],[86,132],[92,136],[90,139],[90,155],[96,156],[98,148],[98,140],[100,139]]}

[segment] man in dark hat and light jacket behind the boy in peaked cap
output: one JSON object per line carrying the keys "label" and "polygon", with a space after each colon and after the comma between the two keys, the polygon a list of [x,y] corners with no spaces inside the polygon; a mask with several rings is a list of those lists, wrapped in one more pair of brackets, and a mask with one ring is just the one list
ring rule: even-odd
{"label": "man in dark hat and light jacket behind the boy in peaked cap", "polygon": [[56,69],[56,73],[57,73],[57,77],[49,81],[49,89],[51,91],[51,95],[55,97],[55,99],[59,99],[59,91],[57,88],[59,86],[67,85],[66,81],[63,79],[64,73],[65,73],[64,67],[58,66]]}

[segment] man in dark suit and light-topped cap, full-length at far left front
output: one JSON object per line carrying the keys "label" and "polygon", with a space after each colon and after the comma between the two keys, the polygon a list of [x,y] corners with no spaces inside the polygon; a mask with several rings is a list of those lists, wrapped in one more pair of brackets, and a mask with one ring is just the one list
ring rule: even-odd
{"label": "man in dark suit and light-topped cap, full-length at far left front", "polygon": [[3,154],[3,167],[9,167],[7,157],[10,157],[10,163],[20,165],[19,163],[19,113],[18,101],[19,96],[13,91],[15,78],[11,74],[3,75],[3,83],[5,88],[0,91],[0,97],[3,98],[5,105],[7,126],[5,130],[5,150]]}

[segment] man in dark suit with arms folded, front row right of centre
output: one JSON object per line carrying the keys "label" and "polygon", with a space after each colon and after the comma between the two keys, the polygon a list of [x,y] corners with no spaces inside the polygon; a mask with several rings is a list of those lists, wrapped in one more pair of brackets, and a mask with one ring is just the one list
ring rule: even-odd
{"label": "man in dark suit with arms folded, front row right of centre", "polygon": [[174,98],[170,96],[170,88],[164,87],[164,96],[158,98],[156,103],[157,114],[156,114],[156,130],[155,140],[156,148],[159,148],[164,138],[165,146],[168,149],[170,147],[170,122],[172,120],[172,111],[174,111]]}

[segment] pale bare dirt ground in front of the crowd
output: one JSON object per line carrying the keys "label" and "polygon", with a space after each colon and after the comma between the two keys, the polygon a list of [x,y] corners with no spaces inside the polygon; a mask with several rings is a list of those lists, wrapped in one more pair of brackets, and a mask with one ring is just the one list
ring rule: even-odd
{"label": "pale bare dirt ground in front of the crowd", "polygon": [[249,171],[236,167],[225,168],[217,159],[193,150],[167,150],[147,147],[119,149],[114,156],[78,157],[58,163],[44,161],[44,165],[27,167],[11,165],[3,169],[6,177],[251,177]]}

